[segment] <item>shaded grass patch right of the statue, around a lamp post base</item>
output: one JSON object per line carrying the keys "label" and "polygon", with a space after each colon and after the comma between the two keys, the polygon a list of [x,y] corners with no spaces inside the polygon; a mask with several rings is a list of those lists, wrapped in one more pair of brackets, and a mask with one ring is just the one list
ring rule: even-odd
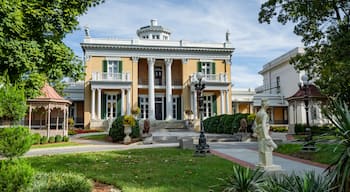
{"label": "shaded grass patch right of the statue, around a lamp post base", "polygon": [[325,143],[316,144],[316,147],[316,152],[302,152],[302,144],[281,144],[275,152],[329,165],[337,160],[343,149],[342,146]]}

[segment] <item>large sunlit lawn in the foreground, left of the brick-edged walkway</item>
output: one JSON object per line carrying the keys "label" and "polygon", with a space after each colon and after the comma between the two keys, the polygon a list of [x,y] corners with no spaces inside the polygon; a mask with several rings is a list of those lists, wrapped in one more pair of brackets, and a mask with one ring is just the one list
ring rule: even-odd
{"label": "large sunlit lawn in the foreground, left of the brick-edged walkway", "polygon": [[28,158],[45,172],[67,170],[112,184],[124,192],[209,191],[232,171],[233,163],[192,150],[153,148]]}

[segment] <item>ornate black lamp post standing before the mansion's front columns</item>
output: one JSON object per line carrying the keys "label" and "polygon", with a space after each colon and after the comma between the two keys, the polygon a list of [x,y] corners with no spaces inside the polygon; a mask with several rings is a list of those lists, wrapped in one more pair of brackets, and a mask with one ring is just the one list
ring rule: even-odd
{"label": "ornate black lamp post standing before the mansion's front columns", "polygon": [[195,80],[195,90],[197,92],[197,102],[198,102],[198,108],[199,108],[199,115],[200,115],[200,135],[198,140],[198,145],[196,145],[196,152],[195,155],[197,156],[204,156],[206,153],[209,153],[209,145],[207,144],[207,139],[204,135],[204,126],[203,126],[203,112],[204,112],[204,96],[203,96],[203,89],[205,88],[205,78],[203,73],[198,72],[196,75],[197,79]]}

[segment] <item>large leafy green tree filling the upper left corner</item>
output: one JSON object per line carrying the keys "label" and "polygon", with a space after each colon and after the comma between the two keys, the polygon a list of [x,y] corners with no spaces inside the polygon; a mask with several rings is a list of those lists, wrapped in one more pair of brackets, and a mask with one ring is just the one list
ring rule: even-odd
{"label": "large leafy green tree filling the upper left corner", "polygon": [[81,79],[81,61],[62,40],[77,29],[78,16],[102,2],[0,0],[0,76],[26,87],[30,97],[44,81],[59,87],[64,77]]}

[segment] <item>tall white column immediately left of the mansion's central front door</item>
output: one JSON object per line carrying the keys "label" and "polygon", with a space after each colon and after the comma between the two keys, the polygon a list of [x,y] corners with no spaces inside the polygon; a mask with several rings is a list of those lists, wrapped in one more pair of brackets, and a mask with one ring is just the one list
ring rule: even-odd
{"label": "tall white column immediately left of the mansion's central front door", "polygon": [[155,119],[154,110],[154,58],[148,58],[148,117],[151,120]]}

